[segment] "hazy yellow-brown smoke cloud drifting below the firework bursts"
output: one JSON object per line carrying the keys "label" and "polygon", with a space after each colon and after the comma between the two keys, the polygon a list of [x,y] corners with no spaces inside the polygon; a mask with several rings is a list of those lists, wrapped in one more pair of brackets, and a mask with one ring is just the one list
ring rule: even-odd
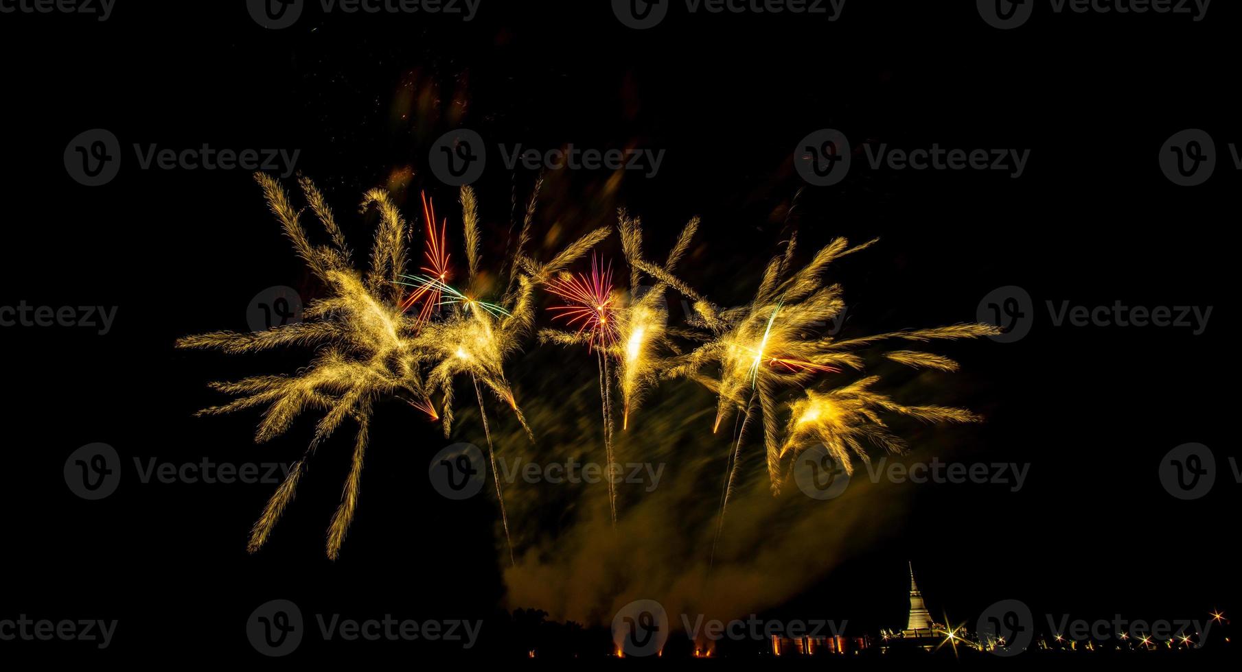
{"label": "hazy yellow-brown smoke cloud drifting below the firework bursts", "polygon": [[[627,431],[616,434],[623,470],[614,529],[606,482],[528,480],[514,470],[535,470],[527,466],[533,464],[543,474],[550,464],[605,462],[595,358],[585,350],[543,347],[522,366],[551,367],[544,373],[559,376],[513,376],[543,386],[517,391],[537,433],[533,445],[515,423],[501,423],[496,435],[498,459],[510,471],[503,484],[517,552],[517,567],[505,572],[509,609],[606,625],[630,601],[653,599],[674,620],[682,614],[743,617],[820,581],[902,516],[899,503],[882,501],[881,489],[858,477],[862,470],[832,500],[804,495],[791,477],[773,496],[756,434],[743,443],[739,484],[709,564],[735,427],[725,423],[713,434],[714,398],[692,383],[672,382],[631,417]],[[497,552],[508,559],[503,546]]]}

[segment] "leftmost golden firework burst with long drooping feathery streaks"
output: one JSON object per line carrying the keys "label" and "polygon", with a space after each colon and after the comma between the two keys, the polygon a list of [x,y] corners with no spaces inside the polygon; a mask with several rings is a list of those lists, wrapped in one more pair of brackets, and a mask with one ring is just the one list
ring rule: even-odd
{"label": "leftmost golden firework burst with long drooping feathery streaks", "polygon": [[200,415],[231,413],[267,405],[256,441],[283,434],[304,412],[323,412],[306,454],[268,501],[251,531],[248,548],[258,550],[267,541],[286,506],[293,500],[306,461],[347,419],[358,424],[354,456],[342,501],[328,528],[328,557],[337,558],[358,505],[363,458],[368,446],[374,403],[400,397],[436,418],[420,372],[421,353],[407,335],[415,319],[400,309],[400,298],[389,280],[405,264],[405,223],[396,206],[380,190],[366,193],[363,207],[375,207],[380,227],[375,234],[370,270],[365,278],[350,264],[350,250],[323,195],[309,180],[299,181],[302,192],[332,238],[330,245],[314,245],[289,205],[284,190],[272,177],[258,174],[267,203],[284,228],[298,255],[327,286],[329,295],[310,303],[303,322],[255,334],[217,331],[189,336],[178,347],[216,348],[229,353],[258,352],[279,346],[315,346],[310,366],[294,376],[256,376],[211,387],[240,398],[199,412]]}

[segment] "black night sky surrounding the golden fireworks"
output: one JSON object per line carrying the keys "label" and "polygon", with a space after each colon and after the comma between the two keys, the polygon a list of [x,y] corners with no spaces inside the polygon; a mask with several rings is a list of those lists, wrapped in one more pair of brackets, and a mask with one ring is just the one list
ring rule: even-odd
{"label": "black night sky surrounding the golden fireworks", "polygon": [[[804,254],[836,236],[879,237],[828,275],[845,286],[846,335],[974,321],[981,299],[1000,286],[1031,295],[1035,324],[1021,341],[933,346],[963,371],[897,372],[891,388],[912,403],[986,417],[981,425],[912,431],[907,461],[1025,465],[1023,486],[868,484],[866,495],[796,508],[817,517],[811,524],[777,517],[768,527],[801,523],[822,533],[799,543],[820,557],[820,569],[784,578],[792,588],[774,601],[739,609],[848,620],[866,632],[902,627],[912,560],[933,616],[971,627],[987,605],[1010,598],[1041,615],[1089,619],[1236,610],[1238,487],[1227,462],[1236,446],[1223,436],[1233,405],[1227,376],[1236,368],[1223,351],[1233,322],[1223,290],[1235,252],[1221,241],[1236,222],[1238,183],[1226,145],[1242,135],[1228,64],[1236,7],[1213,4],[1195,22],[1054,15],[1041,5],[1028,25],[1000,31],[972,2],[852,0],[837,21],[688,15],[676,4],[658,27],[635,31],[606,2],[483,0],[469,22],[324,16],[312,6],[286,30],[260,27],[242,2],[175,5],[122,0],[103,22],[0,17],[0,53],[10,64],[0,110],[9,129],[0,159],[7,195],[0,305],[118,309],[107,335],[0,329],[10,382],[0,470],[9,581],[0,619],[120,621],[107,651],[0,642],[6,657],[20,646],[17,656],[257,658],[245,619],[274,598],[307,614],[353,617],[487,620],[515,608],[558,616],[556,604],[513,601],[494,498],[448,502],[424,476],[445,445],[482,441],[465,392],[452,440],[409,407],[381,404],[361,505],[334,563],[324,558],[323,534],[348,470],[344,435],[319,450],[273,539],[253,555],[247,533],[274,485],[140,484],[133,467],[134,458],[241,464],[301,456],[308,422],[255,445],[257,413],[193,414],[222,399],[207,382],[292,372],[306,365],[306,351],[226,356],[173,343],[245,330],[247,304],[263,288],[322,295],[247,171],[142,170],[133,145],[298,149],[297,170],[324,190],[354,248],[366,250],[374,217],[359,216],[356,203],[375,186],[395,186],[410,218],[425,190],[450,229],[460,226],[455,190],[427,161],[432,143],[460,126],[508,145],[664,150],[651,177],[548,174],[535,219],[545,255],[611,226],[623,206],[643,218],[653,257],[689,217],[702,217],[681,274],[722,305],[750,298],[795,229]],[[116,180],[86,187],[66,174],[62,154],[94,128],[117,135],[124,159]],[[821,128],[841,129],[854,149],[850,176],[828,187],[807,186],[794,167],[795,145]],[[1197,187],[1172,185],[1158,164],[1165,140],[1187,128],[1211,133],[1220,153],[1215,176]],[[873,170],[862,148],[881,143],[1028,149],[1030,160],[1018,179]],[[523,202],[537,172],[509,171],[496,155],[488,161],[474,188],[484,254],[494,260],[504,250],[510,196]],[[292,177],[284,182],[294,187]],[[560,236],[555,245],[549,231]],[[623,265],[616,238],[601,252]],[[1063,301],[1213,310],[1197,335],[1175,326],[1054,326],[1048,303]],[[674,306],[672,319],[682,315]],[[538,399],[532,414],[548,424],[537,434],[561,443],[518,448],[597,455],[595,376],[582,351],[527,343],[510,377],[519,399]],[[553,427],[558,408],[570,413],[582,403],[596,413],[590,422]],[[652,429],[630,440],[630,458],[650,449],[671,472],[682,460],[710,459],[723,469],[728,439],[710,434],[714,403],[692,384],[661,387],[643,409],[652,424],[663,427],[656,420],[663,413],[687,433],[692,423],[702,431],[674,440]],[[96,441],[118,450],[125,472],[116,495],[92,502],[68,491],[63,466],[70,453]],[[1186,443],[1210,446],[1218,470],[1213,490],[1194,501],[1174,498],[1158,479],[1161,456]],[[753,461],[761,462],[758,453]],[[719,474],[703,480],[705,510],[642,510],[641,524],[702,534]],[[597,505],[602,485],[573,496],[542,489],[515,493],[514,506],[528,548],[556,568],[576,552],[558,539],[574,539],[574,527],[586,524],[568,511],[578,500]],[[638,511],[641,493],[626,497]],[[643,538],[616,548],[641,557],[652,552]],[[662,570],[693,575],[709,548],[699,550],[686,554],[689,564]],[[609,593],[553,575],[563,584],[523,584],[515,593]],[[616,595],[628,601],[625,589]],[[375,646],[402,652],[396,643]],[[296,657],[315,651],[348,658],[370,648],[313,642]]]}

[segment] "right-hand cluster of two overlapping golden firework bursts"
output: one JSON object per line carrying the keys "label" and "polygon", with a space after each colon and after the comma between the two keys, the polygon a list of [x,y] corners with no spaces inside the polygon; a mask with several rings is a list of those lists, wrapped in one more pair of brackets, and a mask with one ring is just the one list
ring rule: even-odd
{"label": "right-hand cluster of two overlapping golden firework bursts", "polygon": [[[807,265],[795,272],[792,258],[796,237],[791,238],[785,254],[768,264],[751,303],[728,310],[714,306],[663,269],[650,264],[641,265],[645,272],[694,298],[693,324],[710,334],[710,340],[681,357],[679,362],[669,368],[668,376],[689,377],[717,393],[713,431],[717,431],[722,420],[732,413],[744,414],[735,448],[730,451],[728,477],[720,497],[717,539],[723,529],[733,485],[737,481],[743,436],[756,409],[763,420],[768,475],[774,493],[780,491],[782,482],[782,459],[799,451],[800,439],[815,436],[823,440],[833,455],[842,459],[847,471],[852,472],[851,453],[867,459],[859,438],[866,438],[871,444],[886,450],[900,451],[903,448],[903,444],[884,429],[878,412],[902,413],[928,422],[977,419],[960,409],[903,407],[881,394],[857,391],[856,387],[862,384],[859,382],[840,388],[837,396],[827,393],[816,397],[817,393],[807,391],[807,399],[794,404],[797,419],[790,427],[787,436],[781,439],[777,397],[794,388],[814,386],[825,373],[838,373],[843,368],[862,369],[863,360],[854,352],[858,348],[891,338],[932,341],[996,334],[994,326],[966,324],[845,341],[818,336],[815,327],[828,324],[845,307],[841,286],[826,286],[820,278],[821,274],[832,262],[864,249],[874,242],[850,247],[845,238],[836,238],[820,249]],[[897,351],[889,352],[888,358],[912,367],[956,369],[956,363],[953,361],[925,352]],[[702,373],[708,365],[718,367],[719,378]],[[869,386],[874,378],[864,382]],[[836,404],[847,398],[856,399],[854,403],[861,403],[861,408],[848,413],[837,410]]]}

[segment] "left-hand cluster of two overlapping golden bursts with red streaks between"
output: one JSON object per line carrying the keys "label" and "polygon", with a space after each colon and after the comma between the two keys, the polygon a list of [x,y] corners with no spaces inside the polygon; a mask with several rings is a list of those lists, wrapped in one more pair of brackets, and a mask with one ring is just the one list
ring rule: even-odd
{"label": "left-hand cluster of two overlapping golden bursts with red streaks between", "polygon": [[[448,435],[452,423],[452,381],[469,374],[474,383],[483,429],[488,439],[492,471],[496,456],[487,424],[479,383],[492,389],[513,409],[528,435],[532,435],[513,392],[504,377],[503,362],[529,335],[534,307],[532,293],[546,278],[573,263],[607,234],[597,229],[560,252],[548,264],[539,264],[524,255],[523,244],[514,252],[510,288],[501,304],[477,299],[479,295],[479,243],[477,205],[468,188],[461,193],[466,257],[469,270],[467,290],[447,284],[452,278],[446,245],[447,219],[436,232],[435,210],[424,200],[427,241],[425,275],[409,275],[405,241],[410,231],[388,192],[375,188],[363,198],[361,210],[379,213],[379,228],[371,247],[369,269],[355,270],[351,252],[322,192],[308,179],[299,186],[312,212],[323,224],[330,244],[310,242],[301,223],[299,210],[268,175],[256,174],[256,181],[272,213],[281,222],[286,237],[298,257],[328,289],[328,296],[309,303],[303,321],[272,327],[268,331],[238,334],[216,331],[178,340],[183,348],[214,348],[226,353],[260,352],[283,346],[317,348],[310,365],[293,376],[255,376],[237,382],[211,383],[211,387],[238,398],[200,410],[199,415],[216,415],[267,407],[256,433],[256,441],[267,441],[283,434],[298,415],[313,410],[323,417],[315,424],[314,436],[302,459],[297,460],[267,502],[251,529],[247,549],[257,552],[297,491],[307,460],[315,449],[340,428],[347,419],[358,424],[350,471],[342,492],[342,501],[328,528],[328,557],[335,559],[358,506],[364,456],[369,443],[371,414],[375,402],[400,398],[442,420]],[[535,198],[528,211],[523,243],[529,237],[530,217]],[[412,281],[411,281],[412,280]],[[406,294],[406,288],[414,291]],[[409,315],[422,303],[417,315]],[[442,310],[447,306],[447,310]],[[436,319],[436,317],[440,319]],[[443,413],[436,413],[431,392],[443,394]],[[496,475],[497,496],[501,497],[499,476]],[[501,497],[502,524],[508,534],[504,501]],[[513,547],[509,541],[509,558]]]}

